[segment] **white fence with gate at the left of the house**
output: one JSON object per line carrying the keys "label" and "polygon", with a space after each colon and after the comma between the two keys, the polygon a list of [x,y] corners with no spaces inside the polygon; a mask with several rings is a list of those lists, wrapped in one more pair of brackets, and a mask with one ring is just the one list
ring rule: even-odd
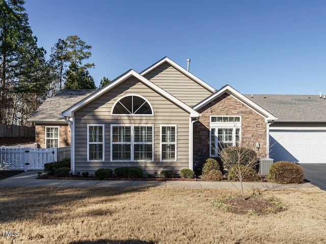
{"label": "white fence with gate at the left of the house", "polygon": [[42,170],[46,163],[70,158],[70,146],[0,148],[0,170]]}

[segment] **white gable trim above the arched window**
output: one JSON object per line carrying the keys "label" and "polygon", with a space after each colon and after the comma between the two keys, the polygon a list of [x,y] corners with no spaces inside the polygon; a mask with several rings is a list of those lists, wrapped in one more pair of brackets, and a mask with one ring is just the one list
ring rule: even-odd
{"label": "white gable trim above the arched window", "polygon": [[149,80],[147,80],[146,78],[144,78],[143,76],[141,76],[140,74],[135,72],[134,70],[127,71],[126,73],[119,76],[118,78],[116,78],[112,82],[108,83],[107,85],[105,85],[101,89],[96,90],[95,93],[93,93],[90,96],[84,98],[82,101],[80,101],[80,102],[76,103],[75,105],[67,108],[66,110],[62,110],[63,112],[60,115],[67,116],[67,117],[73,116],[73,112],[75,112],[79,108],[85,106],[86,104],[92,102],[93,100],[95,100],[96,98],[101,96],[102,94],[106,93],[111,88],[115,87],[116,85],[120,84],[121,82],[123,82],[124,80],[126,80],[126,79],[128,79],[129,77],[132,77],[132,76],[137,78],[139,81],[141,81],[145,85],[147,85],[149,88],[153,89],[156,93],[160,94],[162,97],[165,97],[166,99],[170,100],[171,102],[173,102],[174,104],[176,104],[177,106],[182,108],[183,110],[187,111],[190,114],[191,117],[198,117],[199,116],[199,113],[196,112],[194,109],[187,106],[186,104],[184,104],[183,102],[181,102],[177,98],[173,97],[171,94],[167,93],[164,89],[162,89],[162,88],[158,87],[157,85],[155,85],[154,83],[150,82]]}

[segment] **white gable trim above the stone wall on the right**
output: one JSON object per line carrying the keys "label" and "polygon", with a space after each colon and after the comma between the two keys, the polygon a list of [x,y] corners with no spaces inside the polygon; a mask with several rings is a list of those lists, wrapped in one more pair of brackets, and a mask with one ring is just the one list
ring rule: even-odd
{"label": "white gable trim above the stone wall on the right", "polygon": [[261,116],[265,117],[265,119],[267,121],[278,119],[276,116],[274,116],[273,114],[271,114],[270,112],[268,112],[263,107],[261,107],[258,104],[254,103],[253,101],[251,101],[250,99],[248,99],[246,96],[243,96],[241,93],[239,93],[236,89],[234,89],[230,85],[223,86],[216,93],[212,94],[208,98],[204,99],[202,102],[200,102],[197,105],[195,105],[193,107],[193,109],[195,109],[196,111],[198,111],[200,108],[204,107],[205,105],[207,105],[208,103],[212,102],[213,100],[215,100],[216,98],[220,97],[221,95],[223,95],[225,93],[233,96],[234,98],[236,98],[238,101],[240,101],[244,105],[247,105],[248,107],[250,107],[251,109],[253,109],[254,111],[256,111],[258,114],[260,114]]}

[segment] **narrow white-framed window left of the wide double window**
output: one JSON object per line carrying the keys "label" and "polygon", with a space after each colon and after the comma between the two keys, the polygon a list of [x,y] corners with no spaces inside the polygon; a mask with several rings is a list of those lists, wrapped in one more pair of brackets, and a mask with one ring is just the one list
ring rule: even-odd
{"label": "narrow white-framed window left of the wide double window", "polygon": [[87,156],[88,161],[104,161],[104,125],[88,125]]}

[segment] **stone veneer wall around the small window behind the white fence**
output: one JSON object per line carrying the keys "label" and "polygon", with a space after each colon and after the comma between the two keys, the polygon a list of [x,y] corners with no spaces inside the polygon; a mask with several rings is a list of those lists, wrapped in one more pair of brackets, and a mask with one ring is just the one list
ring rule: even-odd
{"label": "stone veneer wall around the small window behind the white fence", "polygon": [[59,147],[70,146],[70,128],[67,124],[35,125],[35,142],[38,147],[45,148],[45,126],[59,126]]}

